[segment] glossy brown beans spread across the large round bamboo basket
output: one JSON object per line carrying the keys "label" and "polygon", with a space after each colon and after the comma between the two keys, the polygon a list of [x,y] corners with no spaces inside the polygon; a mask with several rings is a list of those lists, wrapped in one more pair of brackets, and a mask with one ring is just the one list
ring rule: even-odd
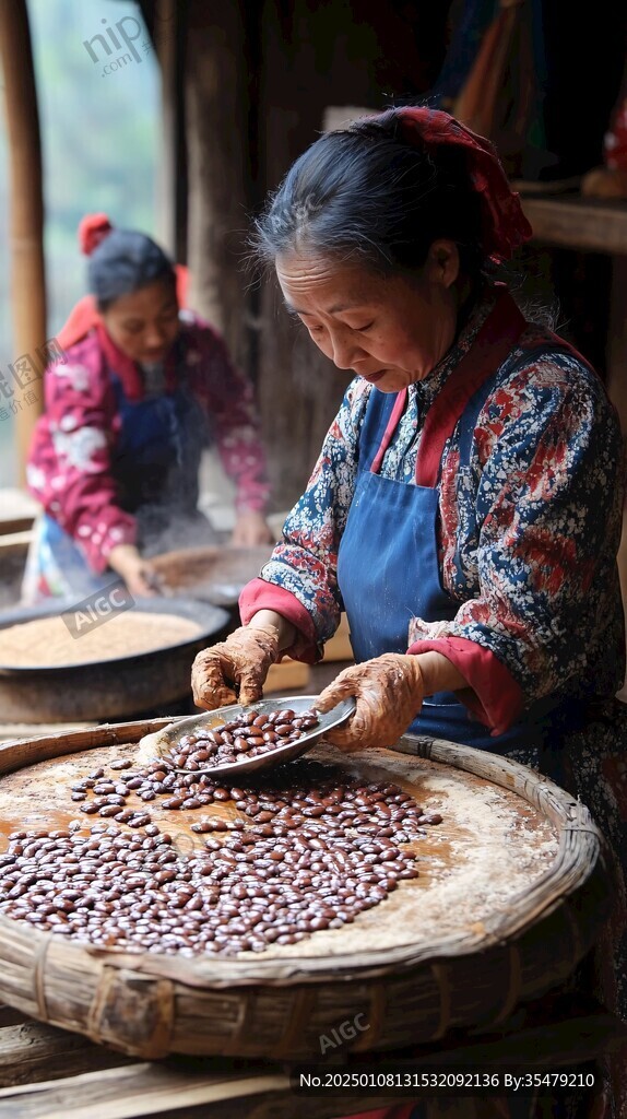
{"label": "glossy brown beans spread across the large round bamboo basket", "polygon": [[[108,767],[115,778],[97,769],[78,782],[73,796],[86,798],[84,812],[115,810],[86,835],[82,820],[12,833],[0,855],[0,912],[99,947],[264,951],[340,929],[417,877],[414,854],[398,844],[441,820],[396,784],[360,782],[308,760],[247,788],[162,764],[136,770],[123,760]],[[232,818],[200,815],[191,833],[210,835],[194,839],[187,857],[145,803],[123,807],[158,796],[170,809],[230,801]]]}

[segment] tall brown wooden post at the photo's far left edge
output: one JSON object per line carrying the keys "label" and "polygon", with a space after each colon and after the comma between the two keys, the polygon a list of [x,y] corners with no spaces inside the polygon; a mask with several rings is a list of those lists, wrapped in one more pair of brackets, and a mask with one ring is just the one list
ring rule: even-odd
{"label": "tall brown wooden post at the photo's far left edge", "polygon": [[[4,75],[10,154],[13,364],[19,358],[28,358],[40,373],[42,361],[37,351],[46,342],[44,197],[39,115],[26,0],[0,4],[0,59]],[[6,393],[10,394],[9,406],[16,416],[20,482],[25,479],[32,429],[44,405],[40,376],[35,380],[31,377],[32,373],[26,367],[21,376],[19,369],[7,373]],[[8,401],[2,403],[6,405]]]}

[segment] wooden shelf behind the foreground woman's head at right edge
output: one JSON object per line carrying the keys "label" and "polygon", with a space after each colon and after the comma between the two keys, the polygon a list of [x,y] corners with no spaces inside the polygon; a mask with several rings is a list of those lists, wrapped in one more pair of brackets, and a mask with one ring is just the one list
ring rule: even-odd
{"label": "wooden shelf behind the foreground woman's head at right edge", "polygon": [[521,195],[533,239],[589,253],[627,255],[627,200]]}

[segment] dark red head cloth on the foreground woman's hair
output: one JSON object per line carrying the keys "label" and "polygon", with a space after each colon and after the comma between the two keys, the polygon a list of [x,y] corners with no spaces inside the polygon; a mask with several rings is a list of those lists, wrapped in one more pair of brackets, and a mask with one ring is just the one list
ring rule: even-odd
{"label": "dark red head cloth on the foreground woman's hair", "polygon": [[408,141],[425,148],[457,147],[466,152],[471,181],[479,195],[485,252],[496,263],[507,260],[532,236],[519,195],[512,190],[495,149],[483,137],[438,109],[395,110]]}

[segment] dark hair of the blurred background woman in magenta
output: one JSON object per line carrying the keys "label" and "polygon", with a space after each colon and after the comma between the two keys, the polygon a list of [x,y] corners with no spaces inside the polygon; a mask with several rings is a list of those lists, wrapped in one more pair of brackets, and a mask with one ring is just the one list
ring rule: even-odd
{"label": "dark hair of the blurred background woman in magenta", "polygon": [[112,229],[93,250],[87,267],[89,290],[98,310],[106,311],[121,295],[162,280],[175,289],[172,262],[144,233]]}

